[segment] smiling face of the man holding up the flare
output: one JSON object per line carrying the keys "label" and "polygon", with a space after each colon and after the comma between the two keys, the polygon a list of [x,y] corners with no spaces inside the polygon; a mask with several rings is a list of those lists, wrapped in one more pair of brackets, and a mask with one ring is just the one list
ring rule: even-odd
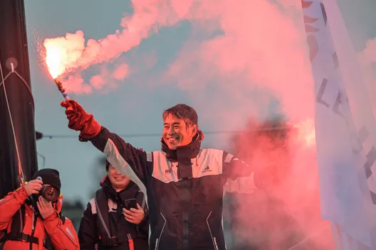
{"label": "smiling face of the man holding up the flare", "polygon": [[183,119],[169,114],[164,119],[162,136],[169,149],[175,150],[178,146],[185,146],[192,142],[197,133],[197,125],[187,126]]}

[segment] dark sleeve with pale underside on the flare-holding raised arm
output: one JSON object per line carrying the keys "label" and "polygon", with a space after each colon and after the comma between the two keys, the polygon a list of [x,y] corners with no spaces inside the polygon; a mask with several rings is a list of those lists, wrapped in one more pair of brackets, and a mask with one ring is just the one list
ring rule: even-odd
{"label": "dark sleeve with pale underside on the flare-holding raised arm", "polygon": [[[146,183],[146,178],[151,176],[147,169],[147,154],[141,148],[135,148],[126,143],[117,134],[111,133],[102,126],[100,133],[90,138],[91,143],[105,153],[108,161],[122,175],[126,175],[141,189]],[[145,192],[145,190],[143,190]]]}

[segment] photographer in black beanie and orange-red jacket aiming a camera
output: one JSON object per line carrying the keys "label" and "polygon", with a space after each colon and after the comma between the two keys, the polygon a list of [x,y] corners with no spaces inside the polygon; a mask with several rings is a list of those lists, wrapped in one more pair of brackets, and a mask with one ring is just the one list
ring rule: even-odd
{"label": "photographer in black beanie and orange-red jacket aiming a camera", "polygon": [[4,250],[80,249],[71,220],[61,215],[60,189],[58,170],[44,168],[0,200]]}

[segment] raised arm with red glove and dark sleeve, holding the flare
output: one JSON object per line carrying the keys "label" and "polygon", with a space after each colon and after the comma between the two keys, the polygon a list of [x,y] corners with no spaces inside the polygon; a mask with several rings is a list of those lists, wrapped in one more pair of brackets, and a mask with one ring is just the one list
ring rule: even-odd
{"label": "raised arm with red glove and dark sleeve, holding the flare", "polygon": [[68,127],[80,131],[80,141],[91,141],[96,148],[105,153],[108,161],[117,171],[126,175],[140,188],[142,187],[140,184],[145,185],[147,176],[150,176],[147,170],[145,151],[133,147],[117,134],[100,126],[98,121],[95,121],[93,114],[85,112],[85,109],[78,102],[70,99],[61,102],[61,107],[66,108],[66,116],[69,120]]}

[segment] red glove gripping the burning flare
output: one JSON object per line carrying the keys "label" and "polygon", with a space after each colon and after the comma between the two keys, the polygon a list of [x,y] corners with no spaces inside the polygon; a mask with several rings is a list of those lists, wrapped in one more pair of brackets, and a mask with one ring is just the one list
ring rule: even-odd
{"label": "red glove gripping the burning flare", "polygon": [[66,108],[66,116],[69,120],[68,128],[80,131],[80,137],[90,139],[97,136],[101,126],[95,121],[93,114],[88,114],[85,109],[72,99],[60,103]]}

